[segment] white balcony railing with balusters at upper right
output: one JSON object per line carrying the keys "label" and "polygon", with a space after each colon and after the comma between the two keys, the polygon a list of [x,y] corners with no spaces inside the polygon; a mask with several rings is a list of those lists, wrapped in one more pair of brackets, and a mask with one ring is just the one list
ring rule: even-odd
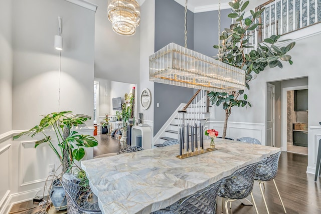
{"label": "white balcony railing with balusters at upper right", "polygon": [[321,0],[271,0],[255,9],[265,8],[255,23],[261,24],[254,31],[249,43],[257,44],[272,35],[284,35],[321,22]]}

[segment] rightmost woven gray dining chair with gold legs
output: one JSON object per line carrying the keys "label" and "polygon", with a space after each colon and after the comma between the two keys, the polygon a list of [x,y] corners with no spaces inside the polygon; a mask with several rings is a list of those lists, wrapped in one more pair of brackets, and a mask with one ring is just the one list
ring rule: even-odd
{"label": "rightmost woven gray dining chair with gold legs", "polygon": [[[256,168],[256,172],[255,172],[255,177],[254,179],[259,181],[259,185],[260,185],[260,190],[261,190],[261,194],[263,197],[263,201],[265,204],[265,208],[267,213],[269,213],[269,209],[267,208],[267,204],[265,201],[265,197],[264,197],[264,193],[263,193],[263,189],[262,189],[262,185],[264,185],[265,181],[269,181],[269,180],[273,180],[274,186],[276,188],[276,192],[277,195],[279,196],[279,199],[281,201],[281,205],[283,207],[284,213],[286,213],[280,192],[276,186],[275,183],[275,176],[277,174],[277,167],[278,167],[278,163],[279,163],[279,157],[280,157],[281,152],[278,152],[276,154],[272,154],[269,157],[264,158],[263,160],[261,160]],[[265,186],[264,186],[265,187]]]}

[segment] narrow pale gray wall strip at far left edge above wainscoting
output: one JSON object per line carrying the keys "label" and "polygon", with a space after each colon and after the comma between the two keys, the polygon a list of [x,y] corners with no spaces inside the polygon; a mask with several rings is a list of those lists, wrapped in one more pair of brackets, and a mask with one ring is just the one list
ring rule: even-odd
{"label": "narrow pale gray wall strip at far left edge above wainscoting", "polygon": [[12,8],[12,0],[0,1],[0,135],[12,129]]}

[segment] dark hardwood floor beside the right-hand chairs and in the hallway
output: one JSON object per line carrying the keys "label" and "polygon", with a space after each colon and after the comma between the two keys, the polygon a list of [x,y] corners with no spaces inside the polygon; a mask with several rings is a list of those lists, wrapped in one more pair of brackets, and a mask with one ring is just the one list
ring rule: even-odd
{"label": "dark hardwood floor beside the right-hand chairs and in the hallway", "polygon": [[[95,136],[98,146],[94,149],[94,156],[118,152],[126,146],[108,135]],[[157,148],[155,148],[157,149]],[[306,173],[307,155],[282,152],[279,160],[278,174],[275,178],[286,211],[289,214],[317,214],[321,213],[321,177],[314,182],[314,175]],[[277,196],[273,181],[265,183],[265,198],[271,214],[284,213]],[[260,214],[266,209],[260,193],[258,182],[254,182],[253,194]],[[249,200],[250,196],[248,197]],[[15,206],[17,206],[16,204]],[[222,201],[218,198],[217,212],[221,213]],[[25,213],[25,212],[17,212]],[[225,210],[224,210],[225,213]],[[255,213],[253,206],[243,205],[240,201],[232,202],[231,214]]]}

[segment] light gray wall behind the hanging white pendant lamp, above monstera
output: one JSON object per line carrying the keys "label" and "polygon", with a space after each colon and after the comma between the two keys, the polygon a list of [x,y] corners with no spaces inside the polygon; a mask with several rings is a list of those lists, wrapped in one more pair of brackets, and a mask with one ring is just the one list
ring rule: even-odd
{"label": "light gray wall behind the hanging white pendant lamp, above monstera", "polygon": [[13,8],[13,129],[31,128],[40,115],[58,111],[58,16],[64,38],[60,110],[92,116],[94,12],[64,0],[14,1]]}

